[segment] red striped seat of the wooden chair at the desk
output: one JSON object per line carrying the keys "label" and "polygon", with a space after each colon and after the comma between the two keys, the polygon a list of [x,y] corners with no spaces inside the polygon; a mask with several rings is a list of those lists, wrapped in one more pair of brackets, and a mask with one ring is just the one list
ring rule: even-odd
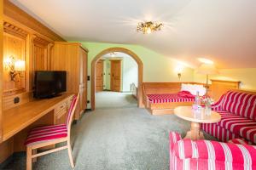
{"label": "red striped seat of the wooden chair at the desk", "polygon": [[26,138],[25,144],[34,144],[46,140],[60,139],[67,137],[67,125],[51,125],[33,128]]}

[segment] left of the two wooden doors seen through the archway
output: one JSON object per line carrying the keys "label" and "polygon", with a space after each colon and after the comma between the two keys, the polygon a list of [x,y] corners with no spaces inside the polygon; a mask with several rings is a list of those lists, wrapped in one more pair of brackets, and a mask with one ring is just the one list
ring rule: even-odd
{"label": "left of the two wooden doors seen through the archway", "polygon": [[103,60],[96,62],[96,92],[103,91]]}

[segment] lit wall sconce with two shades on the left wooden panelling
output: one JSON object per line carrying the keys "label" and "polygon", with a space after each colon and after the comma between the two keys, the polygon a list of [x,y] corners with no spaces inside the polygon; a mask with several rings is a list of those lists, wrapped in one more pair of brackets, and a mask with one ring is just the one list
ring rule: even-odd
{"label": "lit wall sconce with two shades on the left wooden panelling", "polygon": [[15,60],[14,56],[9,56],[9,58],[4,60],[5,68],[8,69],[9,67],[9,75],[10,80],[13,82],[19,82],[15,81],[15,77],[23,77],[22,73],[23,71],[26,71],[26,63],[24,60],[17,59]]}

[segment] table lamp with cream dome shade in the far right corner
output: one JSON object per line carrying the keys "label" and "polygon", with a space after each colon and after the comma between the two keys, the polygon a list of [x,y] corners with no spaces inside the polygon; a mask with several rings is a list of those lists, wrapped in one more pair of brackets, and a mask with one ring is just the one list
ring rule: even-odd
{"label": "table lamp with cream dome shade in the far right corner", "polygon": [[[197,69],[196,73],[198,74],[203,74],[203,75],[207,75],[207,84],[206,84],[206,88],[207,88],[207,92],[208,92],[208,88],[209,88],[209,84],[208,84],[208,77],[209,75],[216,75],[218,74],[218,70],[215,67],[214,64],[208,64],[208,63],[203,63],[200,65],[200,67]],[[206,93],[207,95],[207,93]]]}

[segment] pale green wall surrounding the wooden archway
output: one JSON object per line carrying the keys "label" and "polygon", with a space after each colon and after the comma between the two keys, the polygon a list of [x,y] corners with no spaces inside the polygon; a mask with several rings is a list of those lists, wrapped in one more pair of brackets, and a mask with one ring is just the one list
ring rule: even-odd
{"label": "pale green wall surrounding the wooden archway", "polygon": [[[178,65],[176,59],[163,56],[154,51],[143,48],[139,45],[114,44],[102,42],[81,42],[85,48],[89,49],[88,54],[88,75],[90,76],[90,65],[93,58],[102,50],[107,48],[127,48],[143,61],[143,82],[178,82],[175,68]],[[188,67],[183,69],[181,81],[192,82],[194,80],[194,70]],[[90,99],[90,81],[88,82],[88,99]],[[88,105],[90,108],[90,105]]]}

